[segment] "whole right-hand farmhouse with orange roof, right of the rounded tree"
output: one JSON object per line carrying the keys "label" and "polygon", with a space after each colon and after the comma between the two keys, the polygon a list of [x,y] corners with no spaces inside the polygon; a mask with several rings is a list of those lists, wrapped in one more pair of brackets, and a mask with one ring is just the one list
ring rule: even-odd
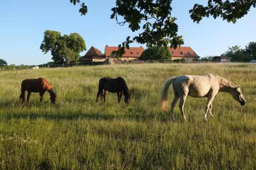
{"label": "whole right-hand farmhouse with orange roof, right of the rounded tree", "polygon": [[174,59],[185,59],[186,62],[190,62],[193,59],[200,57],[190,47],[177,47],[176,49],[168,46],[170,53],[172,54],[172,60]]}

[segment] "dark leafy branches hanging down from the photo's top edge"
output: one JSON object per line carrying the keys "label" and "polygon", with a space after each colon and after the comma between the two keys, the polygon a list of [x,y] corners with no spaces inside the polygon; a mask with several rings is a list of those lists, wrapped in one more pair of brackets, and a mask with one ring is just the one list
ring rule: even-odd
{"label": "dark leafy branches hanging down from the photo's top edge", "polygon": [[[76,5],[79,3],[81,15],[87,14],[87,6],[80,0],[70,0]],[[111,9],[111,19],[123,26],[129,24],[132,31],[138,31],[143,24],[143,31],[131,39],[119,44],[119,50],[113,54],[121,57],[125,53],[125,47],[129,49],[131,42],[147,44],[148,48],[153,45],[171,45],[173,48],[183,45],[182,36],[177,35],[178,26],[175,17],[171,17],[172,0],[116,0],[116,6]],[[221,17],[227,22],[236,23],[236,20],[244,17],[251,7],[256,7],[256,0],[208,0],[207,6],[195,4],[189,10],[191,19],[199,23],[203,17]],[[123,20],[120,22],[118,16]]]}

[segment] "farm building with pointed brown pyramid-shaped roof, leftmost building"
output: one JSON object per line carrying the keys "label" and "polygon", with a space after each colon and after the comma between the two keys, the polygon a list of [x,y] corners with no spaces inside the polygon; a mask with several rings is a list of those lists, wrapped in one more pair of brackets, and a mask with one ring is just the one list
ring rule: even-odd
{"label": "farm building with pointed brown pyramid-shaped roof, leftmost building", "polygon": [[80,62],[99,62],[99,61],[105,61],[107,58],[105,57],[105,55],[102,54],[101,51],[99,51],[97,48],[95,47],[91,47],[87,53],[81,57]]}

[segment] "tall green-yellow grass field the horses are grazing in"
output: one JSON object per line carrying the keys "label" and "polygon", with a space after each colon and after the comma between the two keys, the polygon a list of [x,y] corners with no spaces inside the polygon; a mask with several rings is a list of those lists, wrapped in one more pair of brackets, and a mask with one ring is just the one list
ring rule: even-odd
{"label": "tall green-yellow grass field the horses are grazing in", "polygon": [[[241,85],[246,105],[219,93],[203,119],[206,98],[186,99],[183,122],[161,112],[160,88],[172,76],[217,74]],[[123,77],[132,92],[127,108],[96,93],[102,77]],[[57,92],[39,105],[19,102],[20,83],[45,77]],[[172,88],[170,88],[172,89]],[[172,100],[173,92],[169,92]],[[256,169],[256,66],[145,64],[0,72],[0,169]]]}

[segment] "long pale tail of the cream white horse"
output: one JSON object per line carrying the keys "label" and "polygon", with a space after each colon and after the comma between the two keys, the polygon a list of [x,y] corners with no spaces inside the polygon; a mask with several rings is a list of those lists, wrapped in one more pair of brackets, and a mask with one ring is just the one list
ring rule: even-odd
{"label": "long pale tail of the cream white horse", "polygon": [[172,77],[170,79],[168,79],[164,84],[163,87],[161,89],[161,96],[160,96],[160,109],[163,111],[167,110],[168,107],[168,100],[167,100],[167,96],[168,96],[168,89],[169,86],[172,84],[172,82],[174,82],[176,80],[177,77]]}

